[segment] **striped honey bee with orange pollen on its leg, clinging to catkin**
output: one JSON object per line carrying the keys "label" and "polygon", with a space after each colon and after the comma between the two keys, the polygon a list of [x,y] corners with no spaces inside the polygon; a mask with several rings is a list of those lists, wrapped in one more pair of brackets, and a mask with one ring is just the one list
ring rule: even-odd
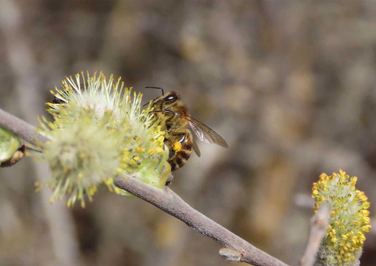
{"label": "striped honey bee with orange pollen on its leg, clinging to catkin", "polygon": [[[197,156],[201,155],[191,130],[200,141],[218,144],[224,148],[229,147],[218,133],[189,115],[187,107],[180,101],[180,96],[176,92],[170,91],[164,94],[163,89],[159,87],[145,88],[162,90],[162,96],[152,100],[154,109],[149,113],[154,113],[159,117],[162,129],[166,131],[165,144],[168,147],[168,163],[171,165],[171,171],[185,165],[191,156],[192,148]],[[181,144],[181,147],[176,145],[177,142]]]}

